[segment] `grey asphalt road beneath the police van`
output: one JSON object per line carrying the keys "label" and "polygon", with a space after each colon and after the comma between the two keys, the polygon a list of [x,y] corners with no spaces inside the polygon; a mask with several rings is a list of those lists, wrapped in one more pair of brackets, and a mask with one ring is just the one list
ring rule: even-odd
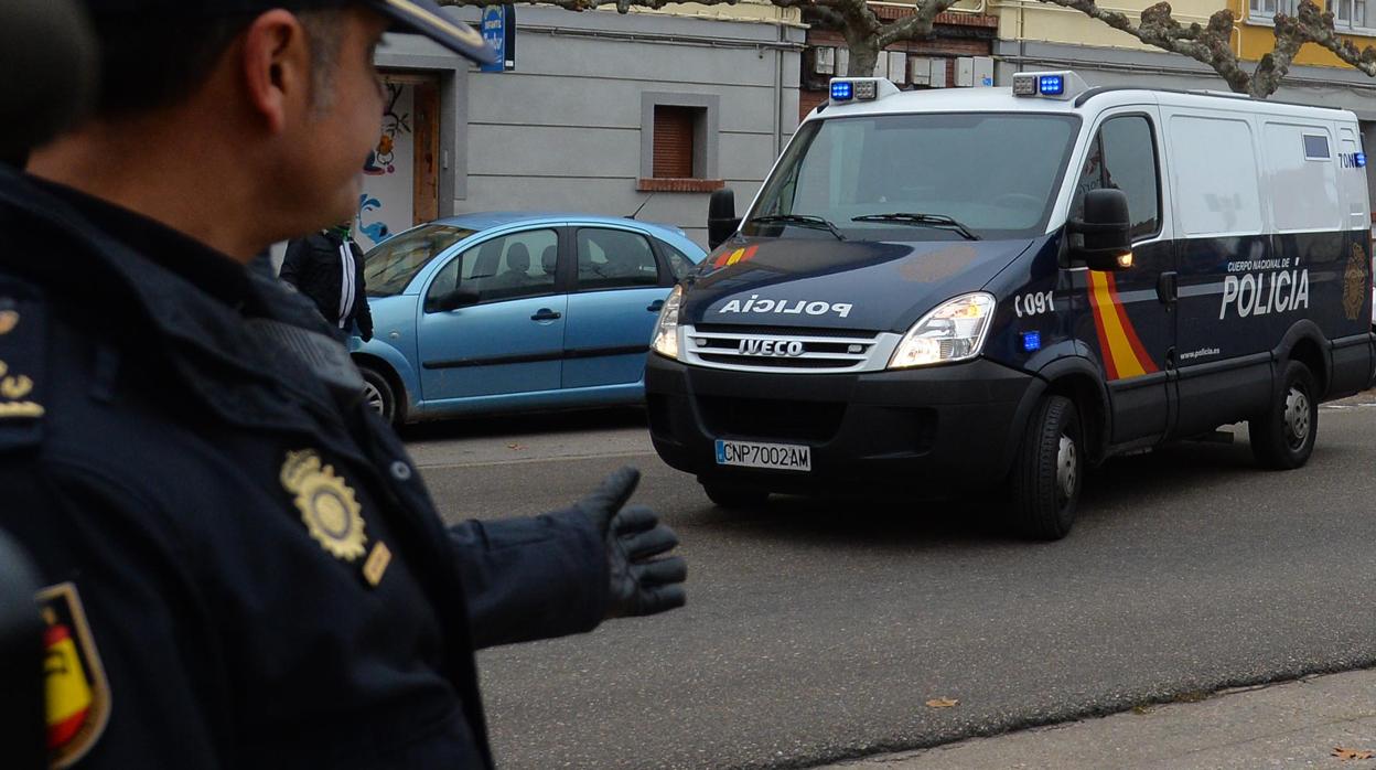
{"label": "grey asphalt road beneath the police van", "polygon": [[[636,412],[409,434],[446,515],[535,514],[644,471],[689,601],[479,657],[499,766],[799,767],[1376,664],[1376,408],[1325,408],[1307,467],[1233,445],[1112,461],[1066,540],[985,506],[714,508]],[[956,700],[930,708],[933,698]]]}

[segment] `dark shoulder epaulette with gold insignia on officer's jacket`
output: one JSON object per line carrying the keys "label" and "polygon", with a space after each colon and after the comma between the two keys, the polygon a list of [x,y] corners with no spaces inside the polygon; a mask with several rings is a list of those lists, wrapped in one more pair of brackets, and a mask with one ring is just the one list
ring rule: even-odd
{"label": "dark shoulder epaulette with gold insignia on officer's jacket", "polygon": [[43,437],[47,306],[26,284],[0,277],[0,452]]}

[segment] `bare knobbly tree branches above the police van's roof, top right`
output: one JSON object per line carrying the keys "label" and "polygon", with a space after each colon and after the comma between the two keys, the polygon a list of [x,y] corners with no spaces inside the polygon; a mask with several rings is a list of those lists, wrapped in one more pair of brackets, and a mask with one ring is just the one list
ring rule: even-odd
{"label": "bare knobbly tree branches above the police van's roof, top right", "polygon": [[1262,56],[1252,72],[1247,72],[1232,47],[1236,25],[1233,11],[1222,10],[1210,17],[1207,25],[1182,25],[1171,18],[1171,4],[1157,3],[1142,11],[1141,23],[1132,23],[1126,14],[1099,8],[1093,0],[1040,0],[1051,6],[1073,8],[1113,29],[1120,29],[1148,45],[1189,56],[1208,65],[1229,88],[1265,99],[1280,88],[1300,47],[1313,43],[1328,48],[1353,67],[1376,77],[1376,48],[1358,51],[1333,30],[1333,14],[1322,11],[1310,0],[1300,0],[1293,17],[1276,14],[1276,47]]}

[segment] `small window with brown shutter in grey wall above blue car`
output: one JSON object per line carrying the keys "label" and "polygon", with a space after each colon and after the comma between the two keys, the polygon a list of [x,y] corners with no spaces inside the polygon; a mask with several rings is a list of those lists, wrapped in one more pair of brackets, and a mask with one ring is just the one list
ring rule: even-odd
{"label": "small window with brown shutter in grey wall above blue car", "polygon": [[709,193],[725,185],[717,178],[718,106],[709,94],[641,94],[637,190]]}

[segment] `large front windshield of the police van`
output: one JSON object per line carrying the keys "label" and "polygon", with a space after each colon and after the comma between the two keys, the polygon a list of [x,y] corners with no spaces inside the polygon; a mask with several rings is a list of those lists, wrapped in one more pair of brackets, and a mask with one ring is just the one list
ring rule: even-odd
{"label": "large front windshield of the police van", "polygon": [[1077,117],[1033,113],[812,121],[743,231],[832,237],[806,218],[860,241],[1035,237],[1046,231],[1077,129]]}

